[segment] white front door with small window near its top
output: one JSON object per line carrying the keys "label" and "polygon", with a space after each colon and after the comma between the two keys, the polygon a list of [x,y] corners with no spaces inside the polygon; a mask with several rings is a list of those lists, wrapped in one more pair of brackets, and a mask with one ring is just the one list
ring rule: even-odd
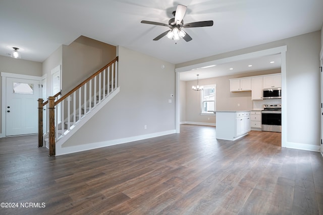
{"label": "white front door with small window near its top", "polygon": [[6,136],[38,132],[39,81],[7,78]]}

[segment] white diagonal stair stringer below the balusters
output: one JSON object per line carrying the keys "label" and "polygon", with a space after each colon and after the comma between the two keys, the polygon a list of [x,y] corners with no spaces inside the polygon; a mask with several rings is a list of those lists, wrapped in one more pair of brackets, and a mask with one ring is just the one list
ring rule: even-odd
{"label": "white diagonal stair stringer below the balusters", "polygon": [[[90,112],[87,112],[74,126],[73,129],[65,131],[64,135],[56,140],[56,156],[70,154],[70,150],[63,148],[62,145],[74,135],[89,119],[91,119],[102,107],[104,107],[112,98],[114,98],[120,92],[120,87],[116,88],[109,96],[105,97],[94,106]],[[68,148],[68,147],[67,147]]]}

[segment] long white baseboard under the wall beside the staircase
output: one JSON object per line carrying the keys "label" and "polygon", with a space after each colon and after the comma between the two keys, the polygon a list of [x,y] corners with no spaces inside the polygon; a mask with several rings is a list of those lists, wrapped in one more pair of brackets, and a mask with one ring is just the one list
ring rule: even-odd
{"label": "long white baseboard under the wall beside the staircase", "polygon": [[132,142],[132,141],[148,139],[148,138],[153,138],[153,137],[158,137],[158,136],[164,136],[164,135],[168,135],[168,134],[172,134],[172,133],[176,133],[176,130],[167,130],[167,131],[161,131],[161,132],[156,132],[156,133],[131,136],[131,137],[126,137],[126,138],[121,138],[121,139],[113,139],[113,140],[107,140],[107,141],[102,141],[102,142],[93,142],[91,144],[84,144],[84,145],[73,146],[73,147],[61,147],[60,149],[56,149],[56,156],[66,155],[66,154],[71,154],[71,153],[76,153],[76,152],[82,152],[82,151],[87,151],[87,150],[93,150],[93,149],[98,149],[98,148],[102,148],[102,147],[109,147],[109,146],[114,146],[114,145],[119,145],[119,144],[126,144],[126,143]]}

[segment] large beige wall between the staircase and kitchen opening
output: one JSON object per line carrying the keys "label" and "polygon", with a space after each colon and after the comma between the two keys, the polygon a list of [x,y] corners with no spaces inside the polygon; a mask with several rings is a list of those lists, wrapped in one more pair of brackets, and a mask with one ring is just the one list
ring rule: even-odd
{"label": "large beige wall between the staircase and kitchen opening", "polygon": [[174,64],[119,46],[118,80],[119,94],[63,147],[175,130]]}

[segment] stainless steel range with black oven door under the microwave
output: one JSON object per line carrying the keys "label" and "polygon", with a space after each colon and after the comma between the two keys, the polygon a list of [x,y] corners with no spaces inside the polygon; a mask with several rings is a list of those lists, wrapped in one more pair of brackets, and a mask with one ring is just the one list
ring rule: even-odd
{"label": "stainless steel range with black oven door under the microwave", "polygon": [[261,130],[282,132],[282,104],[263,105]]}

